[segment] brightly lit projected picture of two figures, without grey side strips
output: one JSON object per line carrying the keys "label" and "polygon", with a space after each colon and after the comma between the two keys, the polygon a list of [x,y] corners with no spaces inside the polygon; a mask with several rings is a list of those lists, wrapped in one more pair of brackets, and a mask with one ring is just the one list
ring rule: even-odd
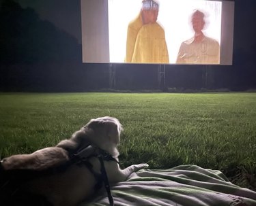
{"label": "brightly lit projected picture of two figures, without grey side strips", "polygon": [[219,64],[221,5],[109,0],[110,62]]}

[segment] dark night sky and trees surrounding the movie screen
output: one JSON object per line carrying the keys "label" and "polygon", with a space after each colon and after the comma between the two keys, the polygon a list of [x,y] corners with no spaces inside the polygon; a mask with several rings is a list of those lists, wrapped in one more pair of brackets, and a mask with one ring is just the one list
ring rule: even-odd
{"label": "dark night sky and trees surrounding the movie screen", "polygon": [[255,0],[235,0],[232,66],[165,65],[165,82],[159,65],[82,63],[80,3],[0,0],[1,91],[256,88]]}

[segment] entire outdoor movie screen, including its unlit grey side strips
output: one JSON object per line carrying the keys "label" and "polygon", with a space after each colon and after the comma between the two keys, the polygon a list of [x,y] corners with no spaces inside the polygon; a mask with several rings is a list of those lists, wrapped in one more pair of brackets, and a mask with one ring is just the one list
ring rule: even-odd
{"label": "entire outdoor movie screen, including its unlit grey side strips", "polygon": [[232,65],[233,1],[81,0],[83,63]]}

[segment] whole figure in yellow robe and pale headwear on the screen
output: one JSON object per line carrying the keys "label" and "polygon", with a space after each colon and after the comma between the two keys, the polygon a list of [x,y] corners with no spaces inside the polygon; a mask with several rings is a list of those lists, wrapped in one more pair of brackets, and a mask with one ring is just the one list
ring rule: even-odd
{"label": "whole figure in yellow robe and pale headwear on the screen", "polygon": [[126,63],[169,63],[165,31],[156,22],[159,4],[143,0],[139,16],[128,25]]}

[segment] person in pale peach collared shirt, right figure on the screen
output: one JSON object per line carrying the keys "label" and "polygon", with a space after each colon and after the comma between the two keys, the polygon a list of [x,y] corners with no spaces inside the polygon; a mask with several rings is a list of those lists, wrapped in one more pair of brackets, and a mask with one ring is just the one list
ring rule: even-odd
{"label": "person in pale peach collared shirt, right figure on the screen", "polygon": [[218,41],[203,34],[205,26],[203,12],[196,10],[192,15],[194,37],[183,41],[177,55],[178,64],[219,64],[220,45]]}

